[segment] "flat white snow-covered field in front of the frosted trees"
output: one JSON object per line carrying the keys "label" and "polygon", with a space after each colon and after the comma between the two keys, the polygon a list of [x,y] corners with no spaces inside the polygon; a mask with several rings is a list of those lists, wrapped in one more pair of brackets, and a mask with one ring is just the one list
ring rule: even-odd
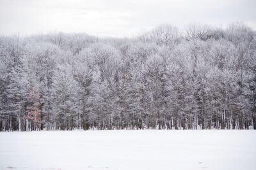
{"label": "flat white snow-covered field in front of the frosted trees", "polygon": [[0,132],[0,169],[256,169],[256,131]]}

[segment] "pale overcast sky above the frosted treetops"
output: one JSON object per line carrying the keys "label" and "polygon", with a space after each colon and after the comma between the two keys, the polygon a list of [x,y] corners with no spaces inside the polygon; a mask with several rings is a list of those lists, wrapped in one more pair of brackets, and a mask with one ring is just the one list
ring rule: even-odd
{"label": "pale overcast sky above the frosted treetops", "polygon": [[160,24],[243,21],[256,29],[256,0],[0,0],[0,34],[51,31],[134,36]]}

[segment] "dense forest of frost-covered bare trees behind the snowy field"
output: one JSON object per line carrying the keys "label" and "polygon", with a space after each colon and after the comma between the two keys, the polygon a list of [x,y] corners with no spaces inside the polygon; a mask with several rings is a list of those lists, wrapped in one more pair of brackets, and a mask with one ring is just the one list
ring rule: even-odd
{"label": "dense forest of frost-covered bare trees behind the snowy field", "polygon": [[256,31],[0,36],[0,131],[256,129]]}

